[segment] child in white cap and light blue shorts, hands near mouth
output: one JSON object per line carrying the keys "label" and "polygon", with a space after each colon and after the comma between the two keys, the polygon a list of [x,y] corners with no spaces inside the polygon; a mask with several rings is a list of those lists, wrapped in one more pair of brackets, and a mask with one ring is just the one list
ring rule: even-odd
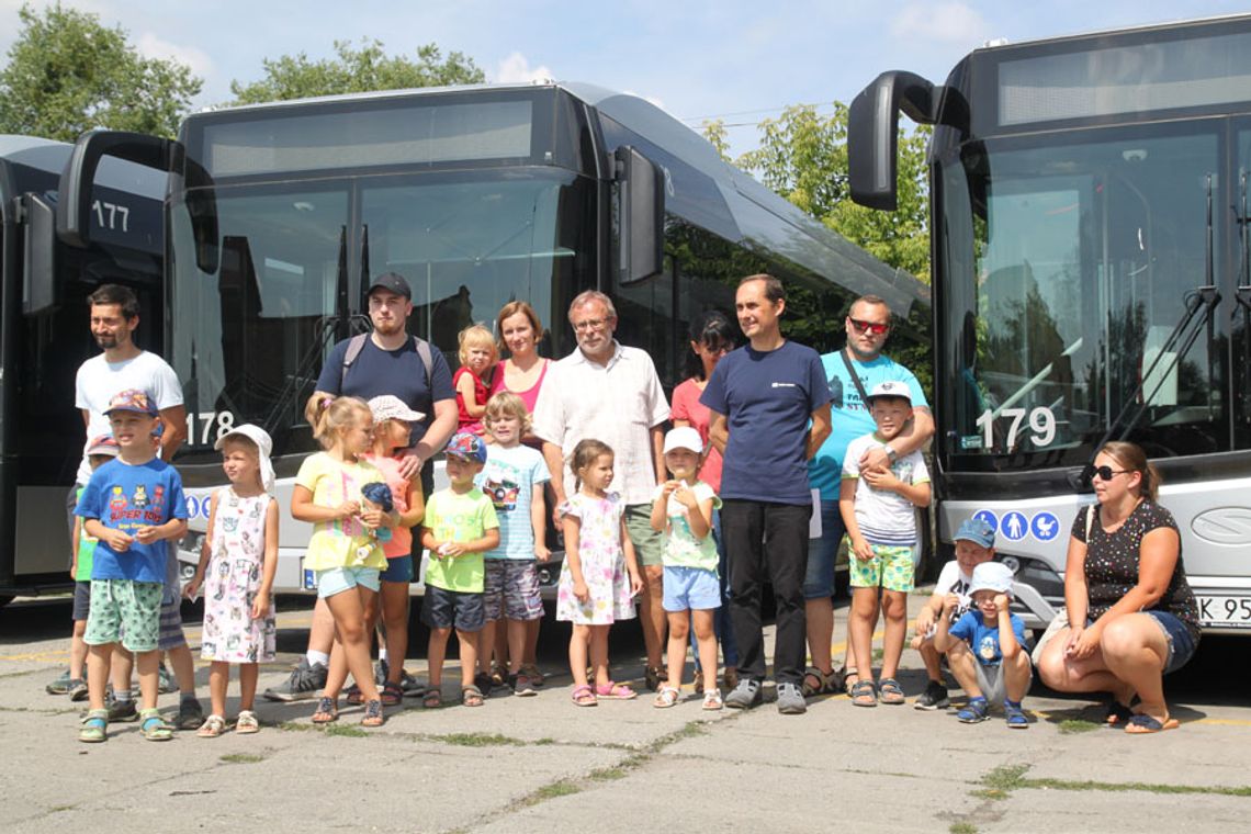
{"label": "child in white cap and light blue shorts, hands near mouth", "polygon": [[717,543],[712,538],[712,511],[721,499],[699,480],[704,446],[691,426],[664,435],[664,466],[673,478],[652,496],[652,529],[664,534],[664,611],[669,618],[669,679],[661,684],[654,706],[678,703],[682,670],[687,663],[689,626],[694,623],[699,666],[704,684],[704,709],[721,709],[717,689],[717,634],[714,616],[721,608],[717,580]]}

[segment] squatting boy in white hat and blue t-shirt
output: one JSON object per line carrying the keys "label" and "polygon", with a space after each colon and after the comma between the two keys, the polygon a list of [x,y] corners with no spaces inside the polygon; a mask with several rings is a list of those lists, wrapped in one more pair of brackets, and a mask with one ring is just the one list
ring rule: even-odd
{"label": "squatting boy in white hat and blue t-shirt", "polygon": [[1008,728],[1023,730],[1030,723],[1021,699],[1030,689],[1033,668],[1025,643],[1025,623],[1008,611],[1012,570],[1001,561],[977,565],[968,595],[975,610],[950,625],[960,596],[947,594],[934,633],[934,648],[947,653],[947,665],[968,695],[968,705],[956,718],[965,724],[985,721],[990,701],[1002,698]]}

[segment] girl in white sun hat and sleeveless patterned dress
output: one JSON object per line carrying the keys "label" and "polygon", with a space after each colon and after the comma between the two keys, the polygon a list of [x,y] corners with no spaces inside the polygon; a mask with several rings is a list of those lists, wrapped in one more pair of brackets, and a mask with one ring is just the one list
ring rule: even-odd
{"label": "girl in white sun hat and sleeveless patterned dress", "polygon": [[[235,731],[260,729],[253,701],[259,664],[274,660],[274,605],[270,589],[278,569],[278,503],[271,440],[264,429],[241,425],[221,436],[221,468],[230,480],[213,494],[209,530],[195,576],[184,593],[204,585],[204,636],[200,656],[211,660],[209,694],[213,713],[198,735],[216,738],[226,729],[230,666],[239,666],[239,718]],[[208,581],[205,581],[205,576]]]}

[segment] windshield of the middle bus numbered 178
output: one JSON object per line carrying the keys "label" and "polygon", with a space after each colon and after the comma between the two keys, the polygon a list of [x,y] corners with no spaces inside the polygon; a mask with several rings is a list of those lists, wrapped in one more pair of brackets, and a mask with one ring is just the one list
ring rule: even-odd
{"label": "windshield of the middle bus numbered 178", "polygon": [[[329,348],[340,290],[362,310],[362,273],[413,288],[410,331],[457,365],[457,334],[527,299],[552,321],[594,264],[594,188],[553,168],[218,188],[220,265],[203,273],[185,195],[171,206],[170,361],[186,384],[193,434],[211,448],[230,425],[265,425],[278,454],[310,443],[303,406]],[[291,445],[294,444],[294,445]]]}

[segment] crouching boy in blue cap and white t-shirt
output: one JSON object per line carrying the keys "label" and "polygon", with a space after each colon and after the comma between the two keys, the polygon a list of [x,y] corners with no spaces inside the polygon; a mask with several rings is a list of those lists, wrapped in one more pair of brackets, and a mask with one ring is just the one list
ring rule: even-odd
{"label": "crouching boy in blue cap and white t-shirt", "polygon": [[966,519],[956,530],[956,558],[942,566],[934,593],[917,614],[917,635],[912,638],[912,648],[921,653],[929,683],[913,701],[912,705],[916,709],[947,709],[951,704],[940,665],[942,654],[934,648],[934,631],[937,630],[934,624],[942,616],[942,604],[947,599],[947,594],[956,594],[960,599],[960,605],[948,618],[950,624],[962,618],[972,608],[968,586],[973,584],[973,569],[992,559],[995,559],[995,528],[985,519]]}

